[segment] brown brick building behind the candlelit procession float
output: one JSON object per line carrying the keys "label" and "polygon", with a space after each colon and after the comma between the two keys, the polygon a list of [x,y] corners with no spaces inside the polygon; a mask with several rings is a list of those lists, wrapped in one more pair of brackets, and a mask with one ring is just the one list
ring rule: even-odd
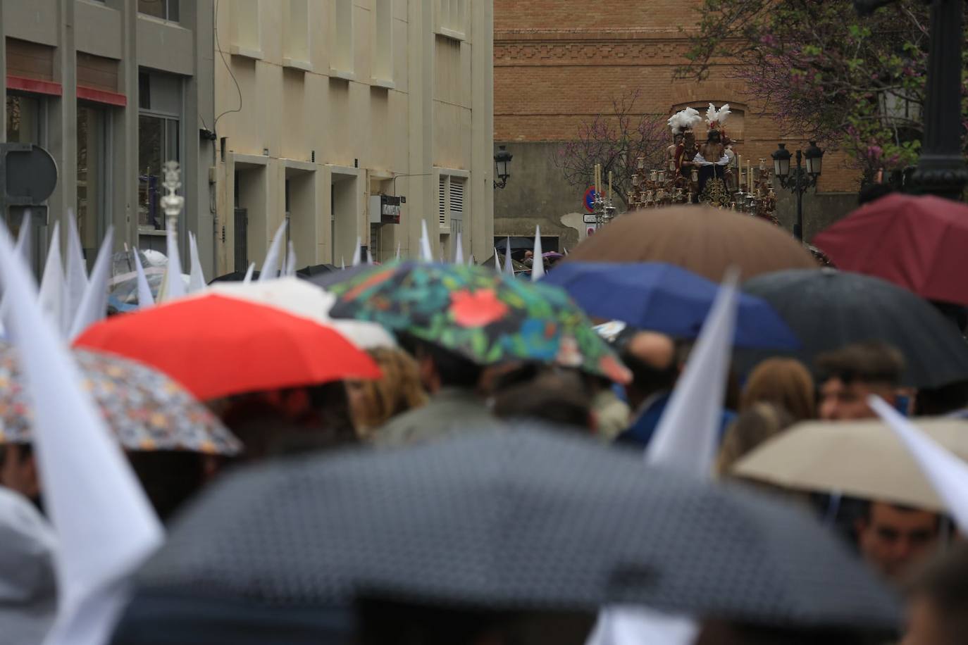
{"label": "brown brick building behind the candlelit procession float", "polygon": [[[779,141],[805,147],[796,136],[781,136],[771,110],[714,66],[708,80],[675,79],[687,62],[687,35],[698,23],[700,0],[601,0],[589,11],[575,0],[496,0],[495,142],[514,155],[513,177],[495,198],[495,233],[558,236],[569,248],[585,236],[583,193],[570,186],[554,162],[562,141],[583,123],[613,113],[613,99],[638,93],[636,111],[663,118],[686,106],[705,113],[708,103],[729,103],[727,124],[743,159],[757,161]],[[670,143],[671,134],[670,134]],[[828,153],[819,194],[804,195],[807,238],[856,204],[859,174],[843,157]],[[589,178],[589,185],[591,178]],[[777,216],[792,227],[795,202],[778,189]]]}

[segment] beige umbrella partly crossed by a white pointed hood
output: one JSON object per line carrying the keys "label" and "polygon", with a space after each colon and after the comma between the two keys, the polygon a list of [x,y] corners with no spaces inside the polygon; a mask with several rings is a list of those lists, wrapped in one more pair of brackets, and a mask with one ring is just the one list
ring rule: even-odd
{"label": "beige umbrella partly crossed by a white pointed hood", "polygon": [[[968,421],[914,423],[955,456],[968,460]],[[835,491],[947,511],[914,456],[880,420],[795,425],[744,456],[732,474],[785,488]]]}

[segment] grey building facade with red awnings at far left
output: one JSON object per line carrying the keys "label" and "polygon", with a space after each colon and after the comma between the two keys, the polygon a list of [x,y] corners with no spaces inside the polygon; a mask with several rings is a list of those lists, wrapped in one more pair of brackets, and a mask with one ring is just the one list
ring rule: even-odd
{"label": "grey building facade with red awnings at far left", "polygon": [[[213,15],[212,0],[0,0],[0,141],[40,144],[58,167],[32,209],[35,268],[69,210],[89,265],[109,226],[115,249],[164,250],[161,170],[174,160],[180,227],[214,271],[214,154],[200,135],[214,120]],[[22,209],[4,216],[16,229]]]}

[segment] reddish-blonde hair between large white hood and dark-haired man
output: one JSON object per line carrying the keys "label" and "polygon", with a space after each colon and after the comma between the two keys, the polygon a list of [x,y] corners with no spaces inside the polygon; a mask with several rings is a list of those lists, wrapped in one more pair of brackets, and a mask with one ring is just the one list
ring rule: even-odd
{"label": "reddish-blonde hair between large white hood and dark-haired man", "polygon": [[813,377],[796,359],[767,359],[753,369],[740,398],[740,411],[756,403],[772,403],[786,410],[794,421],[815,419],[816,392]]}

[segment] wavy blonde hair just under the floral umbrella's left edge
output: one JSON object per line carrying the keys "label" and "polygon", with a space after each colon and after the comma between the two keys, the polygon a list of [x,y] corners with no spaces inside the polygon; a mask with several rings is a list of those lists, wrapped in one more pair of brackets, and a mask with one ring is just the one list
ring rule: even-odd
{"label": "wavy blonde hair just under the floral umbrella's left edge", "polygon": [[351,387],[362,390],[363,402],[353,406],[357,432],[366,437],[370,430],[391,418],[420,407],[427,393],[420,383],[420,370],[402,349],[376,347],[367,351],[383,375],[375,381],[354,381]]}

